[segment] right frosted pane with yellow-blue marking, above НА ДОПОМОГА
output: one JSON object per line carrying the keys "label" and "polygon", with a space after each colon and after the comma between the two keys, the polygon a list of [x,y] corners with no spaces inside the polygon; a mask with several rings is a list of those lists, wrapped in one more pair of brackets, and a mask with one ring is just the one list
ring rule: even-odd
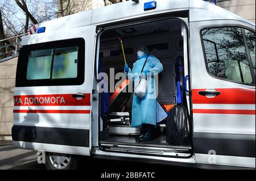
{"label": "right frosted pane with yellow-blue marking, above \u041d\u0410 \u0414\u041e\u041f\u041e\u041c\u041e\u0413\u0410", "polygon": [[76,78],[78,48],[56,48],[53,57],[52,78]]}

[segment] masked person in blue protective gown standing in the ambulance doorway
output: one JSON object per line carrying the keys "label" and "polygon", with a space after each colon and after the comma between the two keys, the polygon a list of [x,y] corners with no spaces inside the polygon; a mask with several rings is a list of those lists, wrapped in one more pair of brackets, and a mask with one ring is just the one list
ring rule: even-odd
{"label": "masked person in blue protective gown standing in the ambulance doorway", "polygon": [[[138,60],[133,64],[131,70],[128,65],[125,65],[124,71],[127,77],[134,81],[134,85],[137,85],[139,78],[147,79],[147,92],[146,96],[140,98],[134,94],[133,106],[132,106],[132,127],[143,127],[144,132],[138,139],[140,141],[153,140],[154,129],[157,121],[157,102],[156,102],[156,87],[154,81],[154,74],[163,71],[163,65],[158,58],[152,55],[148,55],[148,49],[145,46],[141,46],[137,52]],[[146,64],[144,65],[144,62]],[[143,73],[142,67],[144,65]]]}

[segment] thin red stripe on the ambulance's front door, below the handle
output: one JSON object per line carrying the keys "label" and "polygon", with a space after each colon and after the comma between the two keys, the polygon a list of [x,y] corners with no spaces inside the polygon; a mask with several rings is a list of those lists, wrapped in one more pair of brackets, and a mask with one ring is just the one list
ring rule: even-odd
{"label": "thin red stripe on the ambulance's front door, below the handle", "polygon": [[223,113],[233,115],[255,115],[255,110],[203,110],[194,109],[193,113]]}

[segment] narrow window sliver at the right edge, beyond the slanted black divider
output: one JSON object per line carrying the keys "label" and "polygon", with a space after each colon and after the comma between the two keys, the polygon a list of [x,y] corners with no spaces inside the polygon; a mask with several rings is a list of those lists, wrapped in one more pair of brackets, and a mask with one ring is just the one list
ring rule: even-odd
{"label": "narrow window sliver at the right edge, beyond the slanted black divider", "polygon": [[253,69],[255,74],[255,32],[245,30],[245,36],[250,51],[251,61],[253,62]]}

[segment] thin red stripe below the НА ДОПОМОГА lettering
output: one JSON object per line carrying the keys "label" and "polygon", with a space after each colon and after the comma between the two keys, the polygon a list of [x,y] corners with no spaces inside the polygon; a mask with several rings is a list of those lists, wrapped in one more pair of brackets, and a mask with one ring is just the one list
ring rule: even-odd
{"label": "thin red stripe below the \u041d\u0410 \u0414\u041e\u041f\u041e\u041c\u041e\u0413\u0410 lettering", "polygon": [[13,110],[14,113],[90,113],[90,110]]}

